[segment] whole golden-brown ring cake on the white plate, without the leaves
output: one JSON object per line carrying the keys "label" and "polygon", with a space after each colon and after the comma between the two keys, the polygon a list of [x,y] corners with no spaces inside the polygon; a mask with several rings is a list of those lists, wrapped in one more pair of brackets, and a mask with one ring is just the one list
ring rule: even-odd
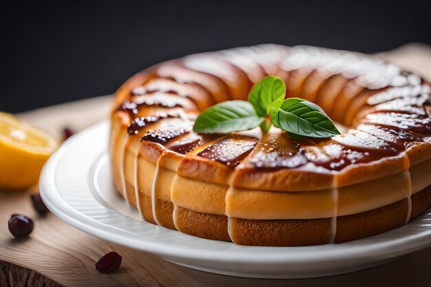
{"label": "whole golden-brown ring cake on the white plate, without the leaves", "polygon": [[[286,97],[343,131],[197,134],[201,111],[282,78]],[[340,243],[407,224],[431,205],[430,83],[375,56],[257,45],[154,65],[116,92],[110,154],[142,220],[257,246]]]}

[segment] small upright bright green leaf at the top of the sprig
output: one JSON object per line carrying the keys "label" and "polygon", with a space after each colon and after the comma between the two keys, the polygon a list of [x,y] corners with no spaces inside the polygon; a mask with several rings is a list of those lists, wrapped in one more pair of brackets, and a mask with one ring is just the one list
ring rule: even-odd
{"label": "small upright bright green leaf at the top of the sprig", "polygon": [[273,102],[282,103],[286,95],[286,85],[277,76],[266,76],[255,83],[249,94],[249,102],[253,105],[257,116],[266,116]]}

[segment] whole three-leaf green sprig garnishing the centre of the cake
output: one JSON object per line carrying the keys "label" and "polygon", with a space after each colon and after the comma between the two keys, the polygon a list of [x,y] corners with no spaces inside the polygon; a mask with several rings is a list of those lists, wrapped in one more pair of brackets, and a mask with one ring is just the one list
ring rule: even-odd
{"label": "whole three-leaf green sprig garnishing the centre of the cake", "polygon": [[274,125],[293,136],[328,138],[340,134],[321,107],[303,98],[285,96],[283,80],[266,76],[251,88],[248,101],[228,100],[202,111],[193,131],[229,134],[260,126],[266,133]]}

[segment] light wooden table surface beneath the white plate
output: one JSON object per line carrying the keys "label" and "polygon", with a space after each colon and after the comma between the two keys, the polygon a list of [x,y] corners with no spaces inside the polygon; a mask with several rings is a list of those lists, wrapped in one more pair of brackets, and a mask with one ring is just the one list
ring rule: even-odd
{"label": "light wooden table surface beneath the white plate", "polygon": [[[431,79],[431,47],[410,44],[381,54]],[[63,127],[78,131],[106,118],[112,96],[81,100],[19,114],[28,123],[60,137]],[[91,112],[89,112],[91,111]],[[55,119],[55,120],[52,120]],[[65,224],[55,215],[36,215],[29,194],[0,193],[0,286],[431,286],[431,248],[389,264],[347,275],[316,279],[247,279],[204,273],[165,262],[142,251],[112,244]],[[30,237],[15,240],[7,222],[12,213],[33,218]],[[101,275],[94,263],[116,251],[123,264]]]}

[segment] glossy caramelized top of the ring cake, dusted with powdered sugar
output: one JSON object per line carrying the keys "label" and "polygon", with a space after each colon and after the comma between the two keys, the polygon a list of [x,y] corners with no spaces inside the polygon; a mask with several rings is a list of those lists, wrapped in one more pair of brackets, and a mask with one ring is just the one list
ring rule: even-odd
{"label": "glossy caramelized top of the ring cake, dusted with powdered sugar", "polygon": [[[192,131],[196,111],[224,100],[245,100],[253,83],[268,75],[284,80],[288,97],[321,105],[351,129],[326,140],[293,139],[284,131],[262,138],[229,134],[202,140],[208,136]],[[130,136],[148,123],[174,118],[174,124],[147,131],[143,143],[234,169],[234,182],[244,182],[240,177],[246,175],[255,180],[261,173],[352,176],[354,167],[368,164],[369,174],[361,173],[365,181],[378,176],[372,172],[381,162],[395,162],[390,172],[397,173],[408,169],[406,151],[419,144],[431,149],[430,84],[356,52],[259,45],[191,55],[135,76],[118,91],[116,102],[113,114],[124,113]]]}

